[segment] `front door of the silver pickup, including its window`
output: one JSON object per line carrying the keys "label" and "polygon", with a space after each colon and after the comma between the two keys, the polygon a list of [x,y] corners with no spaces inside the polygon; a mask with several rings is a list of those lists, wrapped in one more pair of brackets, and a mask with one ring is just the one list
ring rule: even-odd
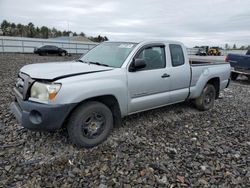
{"label": "front door of the silver pickup, including its window", "polygon": [[165,46],[145,46],[134,59],[145,60],[146,67],[128,72],[129,114],[167,104],[169,75],[166,68]]}

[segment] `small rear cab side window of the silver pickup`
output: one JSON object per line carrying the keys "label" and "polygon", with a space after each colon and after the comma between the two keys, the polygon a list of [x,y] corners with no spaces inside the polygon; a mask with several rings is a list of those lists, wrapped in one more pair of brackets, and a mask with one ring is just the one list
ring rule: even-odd
{"label": "small rear cab side window of the silver pickup", "polygon": [[171,55],[171,62],[173,67],[181,66],[185,64],[184,53],[181,45],[169,44],[169,50]]}

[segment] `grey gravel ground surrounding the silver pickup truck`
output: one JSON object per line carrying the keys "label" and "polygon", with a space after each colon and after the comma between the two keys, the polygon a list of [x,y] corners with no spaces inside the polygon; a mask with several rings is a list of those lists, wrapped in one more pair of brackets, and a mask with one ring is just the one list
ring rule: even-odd
{"label": "grey gravel ground surrounding the silver pickup truck", "polygon": [[77,57],[0,54],[0,187],[250,187],[250,83],[215,107],[190,103],[132,115],[106,142],[76,148],[65,130],[20,127],[9,105],[25,64]]}

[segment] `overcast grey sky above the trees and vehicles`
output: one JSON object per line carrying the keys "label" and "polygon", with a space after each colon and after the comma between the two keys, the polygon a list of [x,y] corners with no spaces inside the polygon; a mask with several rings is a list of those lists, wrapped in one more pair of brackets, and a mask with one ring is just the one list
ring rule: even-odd
{"label": "overcast grey sky above the trees and vehicles", "polygon": [[0,21],[194,45],[250,44],[250,0],[0,0]]}

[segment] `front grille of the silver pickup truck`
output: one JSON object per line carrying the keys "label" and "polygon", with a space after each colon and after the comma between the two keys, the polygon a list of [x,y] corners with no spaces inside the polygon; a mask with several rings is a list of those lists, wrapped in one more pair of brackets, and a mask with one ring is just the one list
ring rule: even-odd
{"label": "front grille of the silver pickup truck", "polygon": [[19,73],[16,81],[16,89],[23,96],[23,99],[28,98],[28,91],[31,84],[34,82],[27,74]]}

